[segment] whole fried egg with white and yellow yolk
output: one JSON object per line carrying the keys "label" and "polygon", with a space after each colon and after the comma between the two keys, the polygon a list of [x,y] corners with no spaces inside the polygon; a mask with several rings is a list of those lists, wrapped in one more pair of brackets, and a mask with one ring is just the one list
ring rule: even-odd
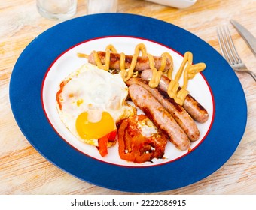
{"label": "whole fried egg with white and yellow yolk", "polygon": [[81,142],[98,146],[98,139],[116,130],[117,122],[136,114],[126,103],[127,95],[120,74],[82,65],[59,85],[59,118]]}

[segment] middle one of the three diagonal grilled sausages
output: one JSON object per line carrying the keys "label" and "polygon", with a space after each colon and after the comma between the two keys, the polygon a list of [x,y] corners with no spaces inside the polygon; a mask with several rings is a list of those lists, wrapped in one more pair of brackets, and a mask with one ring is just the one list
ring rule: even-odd
{"label": "middle one of the three diagonal grilled sausages", "polygon": [[139,78],[130,78],[126,81],[126,85],[130,86],[132,84],[137,84],[145,88],[163,107],[172,115],[178,125],[184,130],[187,134],[187,137],[191,141],[196,141],[200,137],[200,131],[197,128],[197,124],[190,117],[190,115],[184,110],[184,108],[177,104],[173,98],[170,98],[166,92],[163,92],[160,89],[152,89],[148,84],[144,83],[142,79]]}

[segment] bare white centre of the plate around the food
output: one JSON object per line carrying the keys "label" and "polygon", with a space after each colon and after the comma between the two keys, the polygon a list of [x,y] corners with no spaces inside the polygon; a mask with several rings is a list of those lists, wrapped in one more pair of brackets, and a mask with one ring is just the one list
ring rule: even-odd
{"label": "bare white centre of the plate around the food", "polygon": [[[154,43],[149,40],[142,40],[139,38],[133,37],[103,37],[95,40],[90,40],[77,46],[69,49],[63,53],[53,65],[47,71],[47,75],[44,80],[43,86],[43,104],[44,110],[47,114],[47,118],[50,121],[50,124],[54,127],[57,133],[62,136],[66,142],[72,145],[74,148],[81,151],[83,154],[87,154],[90,157],[96,158],[106,163],[112,163],[120,166],[154,166],[158,164],[168,163],[173,160],[177,160],[180,157],[183,157],[188,153],[188,151],[179,151],[172,145],[171,142],[168,142],[166,145],[166,152],[163,159],[154,159],[152,162],[146,163],[131,163],[126,160],[121,160],[118,154],[118,143],[111,148],[108,148],[108,155],[101,157],[99,151],[95,146],[85,144],[76,139],[72,133],[65,127],[62,121],[59,118],[59,114],[56,109],[56,92],[59,90],[59,84],[62,80],[65,79],[73,71],[76,71],[84,63],[87,63],[87,59],[78,58],[77,53],[82,52],[90,54],[93,50],[96,51],[105,51],[105,47],[108,44],[113,44],[118,52],[124,52],[126,55],[133,55],[134,49],[137,44],[144,43],[147,47],[147,51],[151,55],[161,55],[163,52],[169,52],[172,55],[174,62],[174,71],[178,71],[179,66],[181,65],[183,57],[172,49],[167,48],[166,46],[160,45],[159,43]],[[182,79],[182,78],[181,78]],[[182,84],[182,80],[181,80]],[[197,74],[193,80],[190,80],[188,83],[187,89],[190,91],[190,95],[194,96],[203,107],[209,113],[209,119],[206,123],[200,124],[197,123],[197,127],[200,130],[200,139],[196,142],[192,142],[191,149],[197,148],[197,145],[200,145],[200,142],[203,141],[206,134],[209,131],[209,127],[212,124],[212,115],[213,115],[213,101],[212,94],[209,89],[206,80],[202,74]]]}

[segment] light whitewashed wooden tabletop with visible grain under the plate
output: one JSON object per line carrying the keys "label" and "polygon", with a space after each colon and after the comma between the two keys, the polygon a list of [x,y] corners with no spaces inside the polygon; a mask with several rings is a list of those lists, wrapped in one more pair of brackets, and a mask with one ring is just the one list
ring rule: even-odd
{"label": "light whitewashed wooden tabletop with visible grain under the plate", "polygon": [[[86,12],[86,1],[78,0],[75,17]],[[256,58],[229,23],[230,19],[237,20],[256,36],[255,0],[198,0],[183,10],[148,1],[119,0],[117,12],[136,13],[175,24],[218,51],[216,26],[227,24],[242,60],[256,73]],[[41,17],[34,0],[0,3],[0,194],[132,194],[88,184],[53,166],[29,144],[14,120],[8,95],[14,64],[38,34],[57,23]],[[248,122],[236,152],[209,177],[181,189],[156,194],[256,193],[256,83],[247,74],[237,76],[248,103]]]}

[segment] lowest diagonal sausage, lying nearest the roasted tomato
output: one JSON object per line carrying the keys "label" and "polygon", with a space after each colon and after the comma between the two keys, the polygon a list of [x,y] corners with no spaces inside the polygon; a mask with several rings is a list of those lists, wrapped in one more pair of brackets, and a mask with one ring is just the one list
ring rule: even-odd
{"label": "lowest diagonal sausage, lying nearest the roasted tomato", "polygon": [[134,104],[139,107],[153,123],[166,133],[170,141],[181,151],[190,148],[190,140],[172,115],[146,89],[137,84],[129,86],[129,94]]}

